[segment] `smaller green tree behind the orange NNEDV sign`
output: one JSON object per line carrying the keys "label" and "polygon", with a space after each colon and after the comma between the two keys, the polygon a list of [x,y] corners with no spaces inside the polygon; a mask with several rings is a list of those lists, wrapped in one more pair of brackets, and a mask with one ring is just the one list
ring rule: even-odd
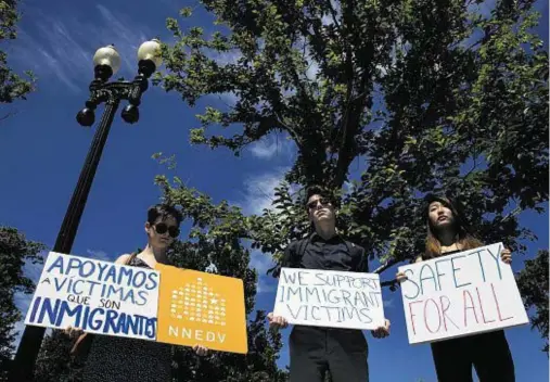
{"label": "smaller green tree behind the orange NNEDV sign", "polygon": [[243,280],[247,323],[248,353],[246,355],[213,352],[199,358],[190,348],[176,347],[174,354],[175,381],[283,382],[286,373],[277,368],[281,335],[265,327],[265,311],[253,313],[257,272],[248,268],[250,251],[243,239],[250,239],[250,219],[227,202],[214,204],[209,196],[187,188],[180,179],[169,182],[156,178],[164,201],[181,207],[191,221],[186,241],[172,245],[170,260],[180,268],[210,271]]}

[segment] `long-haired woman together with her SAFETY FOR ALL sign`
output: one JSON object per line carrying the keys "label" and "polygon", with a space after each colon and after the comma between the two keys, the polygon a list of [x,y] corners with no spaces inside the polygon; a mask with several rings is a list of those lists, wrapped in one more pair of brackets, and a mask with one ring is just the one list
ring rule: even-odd
{"label": "long-haired woman together with her SAFETY FOR ALL sign", "polygon": [[515,381],[498,329],[528,319],[508,266],[510,251],[483,246],[470,233],[460,204],[448,196],[427,195],[426,206],[425,253],[397,273],[409,342],[432,342],[439,382],[471,382],[472,366],[481,382]]}

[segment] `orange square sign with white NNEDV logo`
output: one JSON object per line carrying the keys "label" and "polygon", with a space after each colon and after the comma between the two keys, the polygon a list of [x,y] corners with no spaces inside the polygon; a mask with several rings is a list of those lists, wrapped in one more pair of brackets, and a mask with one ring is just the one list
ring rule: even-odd
{"label": "orange square sign with white NNEDV logo", "polygon": [[247,353],[243,281],[157,265],[161,271],[157,341]]}

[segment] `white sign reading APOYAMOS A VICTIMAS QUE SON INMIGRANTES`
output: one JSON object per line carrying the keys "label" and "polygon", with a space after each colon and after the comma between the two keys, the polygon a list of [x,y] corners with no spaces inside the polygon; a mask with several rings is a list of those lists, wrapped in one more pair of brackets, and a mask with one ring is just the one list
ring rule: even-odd
{"label": "white sign reading APOYAMOS A VICTIMAS QUE SON INMIGRANTES", "polygon": [[156,339],[159,273],[50,252],[26,324]]}

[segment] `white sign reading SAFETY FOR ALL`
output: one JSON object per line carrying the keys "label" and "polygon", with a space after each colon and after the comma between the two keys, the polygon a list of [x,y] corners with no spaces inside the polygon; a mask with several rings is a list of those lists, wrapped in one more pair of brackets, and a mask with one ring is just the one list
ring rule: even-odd
{"label": "white sign reading SAFETY FOR ALL", "polygon": [[502,243],[399,267],[409,343],[528,323]]}

